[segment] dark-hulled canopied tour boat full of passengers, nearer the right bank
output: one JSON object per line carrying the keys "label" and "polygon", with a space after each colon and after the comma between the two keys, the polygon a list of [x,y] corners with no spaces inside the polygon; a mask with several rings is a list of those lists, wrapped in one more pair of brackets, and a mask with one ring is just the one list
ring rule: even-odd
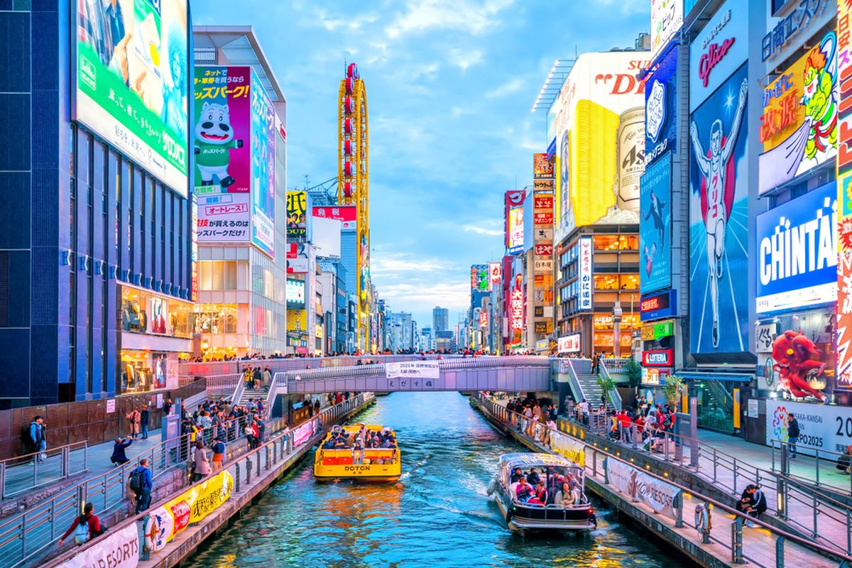
{"label": "dark-hulled canopied tour boat full of passengers, nearer the right bank", "polygon": [[[535,471],[547,491],[544,502],[534,491],[524,491],[523,487],[519,496],[519,470],[525,479]],[[521,535],[525,531],[590,531],[597,526],[595,512],[585,495],[583,468],[562,456],[500,456],[497,476],[488,485],[488,495],[492,494],[509,530]]]}

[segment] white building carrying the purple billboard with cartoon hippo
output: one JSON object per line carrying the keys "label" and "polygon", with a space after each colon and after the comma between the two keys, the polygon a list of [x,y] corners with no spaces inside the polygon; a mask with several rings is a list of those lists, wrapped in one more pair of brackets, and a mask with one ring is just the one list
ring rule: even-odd
{"label": "white building carrying the purple billboard with cartoon hippo", "polygon": [[[193,28],[193,55],[195,112],[190,126],[199,151],[198,166],[190,174],[199,225],[199,303],[193,308],[193,331],[202,334],[205,354],[213,357],[285,353],[285,96],[249,26]],[[239,87],[226,93],[216,89],[220,84]],[[224,116],[223,123],[209,120],[214,111]],[[204,129],[222,129],[230,136],[224,170],[208,164],[222,145],[207,142]],[[302,276],[313,275],[309,268]],[[302,301],[308,299],[302,327],[310,339],[303,347],[314,353],[310,340],[319,326],[312,317],[313,279],[296,280],[291,290],[301,287]]]}

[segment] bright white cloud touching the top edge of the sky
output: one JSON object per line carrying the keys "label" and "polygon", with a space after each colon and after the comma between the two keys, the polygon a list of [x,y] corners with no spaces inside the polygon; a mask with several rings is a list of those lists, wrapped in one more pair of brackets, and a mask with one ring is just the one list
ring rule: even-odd
{"label": "bright white cloud touching the top edge of the sky", "polygon": [[497,14],[513,0],[412,0],[406,12],[385,28],[389,37],[429,30],[481,34],[498,26]]}

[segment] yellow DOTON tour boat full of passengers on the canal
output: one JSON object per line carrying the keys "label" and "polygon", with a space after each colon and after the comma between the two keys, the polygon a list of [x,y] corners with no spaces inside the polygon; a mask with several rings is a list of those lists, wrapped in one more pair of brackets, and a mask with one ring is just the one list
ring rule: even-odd
{"label": "yellow DOTON tour boat full of passengers on the canal", "polygon": [[[390,437],[389,448],[362,448],[357,439],[360,428]],[[375,424],[335,426],[325,434],[314,455],[314,478],[318,481],[354,479],[367,483],[389,483],[400,479],[402,462],[396,434]]]}

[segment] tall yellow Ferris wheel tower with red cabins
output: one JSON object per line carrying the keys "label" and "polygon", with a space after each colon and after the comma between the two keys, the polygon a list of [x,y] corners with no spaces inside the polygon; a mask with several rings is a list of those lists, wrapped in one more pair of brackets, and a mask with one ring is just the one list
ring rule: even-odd
{"label": "tall yellow Ferris wheel tower with red cabins", "polygon": [[346,77],[337,92],[337,203],[355,205],[356,292],[358,310],[357,347],[363,353],[376,350],[370,280],[370,187],[367,93],[354,63],[346,66]]}

